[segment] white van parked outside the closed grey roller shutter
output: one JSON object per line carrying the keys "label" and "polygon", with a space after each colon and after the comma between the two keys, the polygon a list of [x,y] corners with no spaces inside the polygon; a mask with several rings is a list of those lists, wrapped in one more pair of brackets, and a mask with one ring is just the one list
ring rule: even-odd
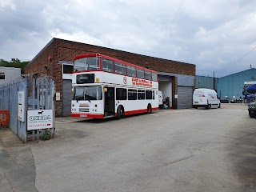
{"label": "white van parked outside the closed grey roller shutter", "polygon": [[193,107],[196,109],[198,107],[206,107],[206,109],[220,108],[221,103],[215,90],[201,88],[194,90]]}

